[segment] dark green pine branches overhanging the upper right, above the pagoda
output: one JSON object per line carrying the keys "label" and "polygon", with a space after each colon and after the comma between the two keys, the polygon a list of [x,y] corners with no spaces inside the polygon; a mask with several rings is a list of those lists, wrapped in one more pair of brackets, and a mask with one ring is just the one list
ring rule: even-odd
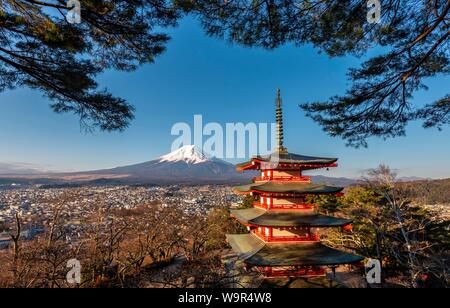
{"label": "dark green pine branches overhanging the upper right, above the pagoda", "polygon": [[[187,1],[187,3],[191,3]],[[374,46],[384,54],[349,71],[345,95],[301,104],[332,136],[366,146],[369,136],[405,134],[407,123],[450,124],[450,93],[414,105],[425,79],[450,71],[450,1],[383,0],[380,23],[370,23],[367,0],[197,0],[188,9],[209,35],[245,46],[274,49],[312,44],[330,56],[361,56]]]}

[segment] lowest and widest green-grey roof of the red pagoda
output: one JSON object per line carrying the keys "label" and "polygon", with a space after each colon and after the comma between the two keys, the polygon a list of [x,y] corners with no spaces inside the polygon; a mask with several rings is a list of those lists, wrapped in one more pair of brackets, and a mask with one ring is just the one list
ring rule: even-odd
{"label": "lowest and widest green-grey roof of the red pagoda", "polygon": [[320,242],[266,243],[253,234],[227,235],[227,241],[239,258],[254,266],[325,266],[363,260]]}

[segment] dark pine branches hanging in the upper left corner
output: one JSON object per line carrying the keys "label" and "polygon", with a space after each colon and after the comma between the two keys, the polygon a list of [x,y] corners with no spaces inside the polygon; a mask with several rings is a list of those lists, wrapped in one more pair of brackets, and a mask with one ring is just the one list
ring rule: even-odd
{"label": "dark pine branches hanging in the upper left corner", "polygon": [[[86,129],[122,130],[133,107],[95,77],[106,69],[132,71],[160,55],[179,11],[164,0],[0,1],[0,92],[30,87],[43,92],[56,112],[72,112]],[[69,3],[70,4],[70,3]]]}

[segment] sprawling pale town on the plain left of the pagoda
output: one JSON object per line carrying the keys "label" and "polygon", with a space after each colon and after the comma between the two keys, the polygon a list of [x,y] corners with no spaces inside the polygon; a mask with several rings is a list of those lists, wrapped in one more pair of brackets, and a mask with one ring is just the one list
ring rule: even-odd
{"label": "sprawling pale town on the plain left of the pagoda", "polygon": [[[84,186],[80,188],[17,188],[3,190],[0,194],[0,249],[11,244],[9,227],[14,224],[15,213],[24,221],[22,237],[32,239],[48,227],[54,215],[54,200],[70,199],[62,206],[60,214],[65,227],[77,237],[83,232],[81,221],[98,211],[130,210],[142,205],[160,208],[176,207],[186,214],[207,214],[210,209],[232,206],[240,197],[231,188],[222,185],[204,186]],[[3,226],[3,231],[2,231]]]}

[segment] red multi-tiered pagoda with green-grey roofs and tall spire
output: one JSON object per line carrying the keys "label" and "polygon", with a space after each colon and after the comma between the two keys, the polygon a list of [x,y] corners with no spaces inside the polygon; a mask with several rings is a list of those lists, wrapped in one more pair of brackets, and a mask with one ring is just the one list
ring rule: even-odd
{"label": "red multi-tiered pagoda with green-grey roofs and tall spire", "polygon": [[280,90],[277,93],[277,149],[269,156],[256,156],[239,164],[238,170],[261,170],[248,185],[235,187],[239,194],[256,196],[248,209],[231,210],[231,215],[250,231],[227,235],[233,250],[247,267],[256,267],[266,277],[322,276],[326,268],[358,263],[361,257],[325,246],[318,228],[350,229],[347,219],[321,215],[311,195],[342,195],[342,187],[311,183],[304,170],[336,167],[337,158],[289,153],[283,146],[283,116]]}

